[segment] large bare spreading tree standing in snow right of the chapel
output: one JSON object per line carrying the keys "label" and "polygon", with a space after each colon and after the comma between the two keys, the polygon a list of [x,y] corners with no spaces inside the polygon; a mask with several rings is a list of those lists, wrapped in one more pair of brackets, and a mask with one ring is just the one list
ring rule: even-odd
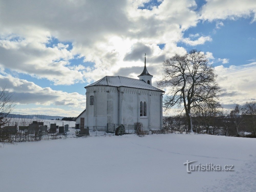
{"label": "large bare spreading tree standing in snow right of the chapel", "polygon": [[192,130],[191,109],[199,102],[216,103],[220,87],[216,82],[214,68],[209,64],[205,54],[195,49],[185,55],[175,54],[163,63],[163,76],[157,82],[158,87],[166,88],[164,108],[183,106],[185,110],[188,131]]}

